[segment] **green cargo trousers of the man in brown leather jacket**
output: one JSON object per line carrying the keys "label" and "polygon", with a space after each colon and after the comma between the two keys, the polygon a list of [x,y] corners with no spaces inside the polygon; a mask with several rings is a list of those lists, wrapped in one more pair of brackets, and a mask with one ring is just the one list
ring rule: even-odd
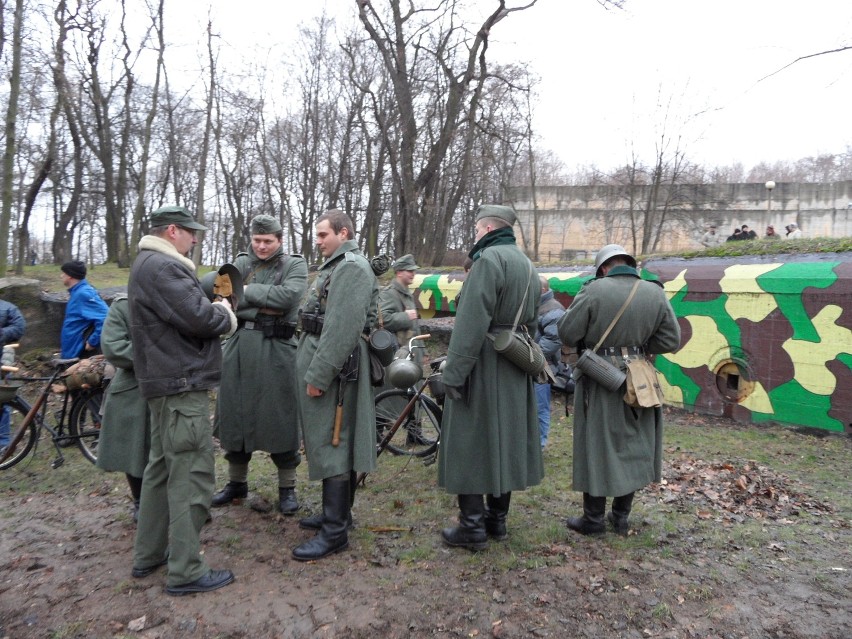
{"label": "green cargo trousers of the man in brown leather jacket", "polygon": [[207,574],[201,555],[201,527],[215,487],[213,426],[207,391],[148,400],[151,453],[142,478],[133,566],[154,566],[169,558],[169,586]]}

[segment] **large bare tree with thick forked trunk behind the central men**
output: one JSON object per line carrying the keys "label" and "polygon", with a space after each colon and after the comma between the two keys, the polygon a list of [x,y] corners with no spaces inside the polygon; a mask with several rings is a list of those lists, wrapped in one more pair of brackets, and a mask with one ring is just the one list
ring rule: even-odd
{"label": "large bare tree with thick forked trunk behind the central men", "polygon": [[[463,122],[472,124],[488,75],[486,50],[491,30],[504,18],[533,5],[507,8],[499,0],[494,11],[472,38],[458,24],[456,0],[440,0],[435,8],[417,9],[401,0],[389,1],[389,13],[381,15],[375,3],[356,0],[358,16],[383,63],[396,102],[396,134],[389,123],[380,123],[389,142],[392,174],[399,198],[399,219],[394,246],[397,254],[412,252],[419,260],[434,263],[446,246],[443,233],[437,237],[428,231],[446,229],[447,209],[436,207],[437,182],[447,151]],[[430,72],[431,69],[431,72]],[[440,79],[444,91],[440,102],[433,103],[428,120],[435,135],[424,135],[419,121],[420,109],[428,99],[420,93],[422,78]],[[433,89],[434,97],[434,89]],[[472,135],[472,133],[470,134]],[[470,150],[472,140],[468,140]],[[460,158],[469,161],[469,155]],[[448,203],[458,201],[457,191]],[[452,209],[450,209],[452,211]]]}

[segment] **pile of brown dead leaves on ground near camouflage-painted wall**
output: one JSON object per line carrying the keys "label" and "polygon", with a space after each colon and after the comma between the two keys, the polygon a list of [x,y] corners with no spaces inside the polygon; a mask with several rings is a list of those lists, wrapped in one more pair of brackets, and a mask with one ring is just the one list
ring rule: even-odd
{"label": "pile of brown dead leaves on ground near camouflage-painted wall", "polygon": [[705,461],[682,453],[663,462],[663,480],[649,489],[662,503],[695,512],[699,519],[741,522],[834,512],[794,480],[753,461]]}

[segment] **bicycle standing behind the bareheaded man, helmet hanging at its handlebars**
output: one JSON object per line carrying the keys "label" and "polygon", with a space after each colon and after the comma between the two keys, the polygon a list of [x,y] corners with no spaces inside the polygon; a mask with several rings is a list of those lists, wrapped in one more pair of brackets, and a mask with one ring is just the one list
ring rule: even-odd
{"label": "bicycle standing behind the bareheaded man, helmet hanging at its handlebars", "polygon": [[[413,364],[412,370],[419,368],[415,362],[414,349],[425,348],[415,344],[429,335],[419,335],[408,342],[408,352],[403,359]],[[441,438],[441,419],[443,418],[443,383],[441,382],[441,364],[445,357],[429,363],[431,372],[425,381],[415,373],[413,382],[407,388],[393,388],[376,395],[376,455],[387,449],[396,455],[414,457],[432,457],[438,450]],[[394,366],[394,362],[391,366]],[[397,363],[397,365],[399,365]],[[408,380],[406,380],[408,381]],[[429,389],[434,399],[426,395]]]}

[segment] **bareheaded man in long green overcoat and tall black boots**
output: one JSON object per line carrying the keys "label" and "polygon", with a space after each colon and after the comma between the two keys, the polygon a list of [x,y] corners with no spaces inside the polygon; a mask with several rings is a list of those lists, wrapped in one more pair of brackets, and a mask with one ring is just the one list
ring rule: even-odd
{"label": "bareheaded man in long green overcoat and tall black boots", "polygon": [[302,307],[296,368],[308,475],[322,480],[323,512],[300,522],[319,533],[293,549],[299,561],[349,546],[355,475],[376,465],[376,411],[364,337],[376,319],[379,286],[354,235],[342,211],[327,211],[317,220],[317,247],[325,261]]}

